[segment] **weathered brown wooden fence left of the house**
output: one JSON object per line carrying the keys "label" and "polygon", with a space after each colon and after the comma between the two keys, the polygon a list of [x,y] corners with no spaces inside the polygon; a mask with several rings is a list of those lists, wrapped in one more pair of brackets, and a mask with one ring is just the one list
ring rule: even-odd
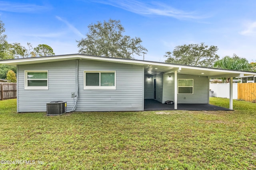
{"label": "weathered brown wooden fence left of the house", "polygon": [[0,100],[17,98],[16,83],[0,82]]}

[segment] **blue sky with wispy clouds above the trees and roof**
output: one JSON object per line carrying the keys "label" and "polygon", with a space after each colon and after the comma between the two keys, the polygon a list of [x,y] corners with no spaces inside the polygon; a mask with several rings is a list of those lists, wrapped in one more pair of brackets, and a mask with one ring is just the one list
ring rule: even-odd
{"label": "blue sky with wispy clouds above the trees and roof", "polygon": [[[202,43],[256,61],[255,0],[0,0],[9,43],[50,45],[56,55],[78,53],[88,25],[120,20],[124,35],[140,37],[145,60],[164,61],[178,45]],[[142,59],[137,56],[136,59]]]}

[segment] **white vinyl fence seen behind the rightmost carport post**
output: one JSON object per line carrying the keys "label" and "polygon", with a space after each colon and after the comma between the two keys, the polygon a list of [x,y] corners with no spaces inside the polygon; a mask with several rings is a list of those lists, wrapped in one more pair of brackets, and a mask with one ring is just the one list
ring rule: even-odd
{"label": "white vinyl fence seen behind the rightmost carport post", "polygon": [[[212,84],[210,90],[214,91],[213,96],[217,98],[229,98],[229,83]],[[237,83],[233,83],[233,99],[237,99]]]}

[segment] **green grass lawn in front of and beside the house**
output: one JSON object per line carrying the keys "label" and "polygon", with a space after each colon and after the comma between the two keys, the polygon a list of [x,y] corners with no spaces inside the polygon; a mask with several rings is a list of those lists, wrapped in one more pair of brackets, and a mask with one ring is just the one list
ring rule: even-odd
{"label": "green grass lawn in front of and beside the house", "polygon": [[234,109],[46,116],[0,101],[0,169],[256,169],[256,104]]}

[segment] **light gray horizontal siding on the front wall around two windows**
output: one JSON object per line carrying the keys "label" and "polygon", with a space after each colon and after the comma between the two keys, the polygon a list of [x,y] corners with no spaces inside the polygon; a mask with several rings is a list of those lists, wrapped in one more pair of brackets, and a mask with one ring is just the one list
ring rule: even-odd
{"label": "light gray horizontal siding on the front wall around two windows", "polygon": [[[73,107],[76,60],[18,66],[18,112],[46,111],[55,100]],[[143,66],[79,60],[76,111],[141,111],[144,109]],[[24,70],[48,70],[48,90],[24,90]],[[116,90],[84,90],[84,71],[116,71]]]}

